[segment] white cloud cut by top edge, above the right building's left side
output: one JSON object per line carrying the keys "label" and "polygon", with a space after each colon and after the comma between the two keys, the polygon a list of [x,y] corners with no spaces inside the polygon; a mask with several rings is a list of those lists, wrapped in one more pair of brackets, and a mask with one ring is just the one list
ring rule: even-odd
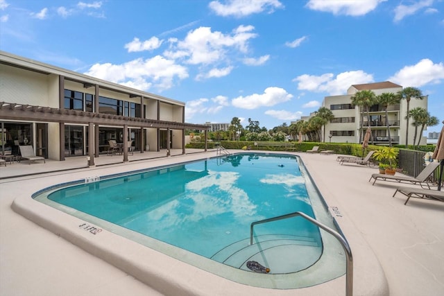
{"label": "white cloud cut by top edge, above the right building's left side", "polygon": [[323,12],[332,12],[334,15],[351,15],[357,17],[366,15],[368,12],[375,10],[379,3],[387,0],[309,0],[306,7],[311,10],[319,10]]}

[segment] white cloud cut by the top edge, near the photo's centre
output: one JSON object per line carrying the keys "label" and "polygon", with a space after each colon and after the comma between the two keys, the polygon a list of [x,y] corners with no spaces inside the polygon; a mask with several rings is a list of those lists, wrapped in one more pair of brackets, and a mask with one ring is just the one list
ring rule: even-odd
{"label": "white cloud cut by the top edge, near the photo's centre", "polygon": [[274,12],[275,8],[284,8],[278,0],[228,0],[226,4],[220,1],[211,1],[208,5],[216,15],[228,17],[245,17],[254,13],[268,10],[268,13]]}

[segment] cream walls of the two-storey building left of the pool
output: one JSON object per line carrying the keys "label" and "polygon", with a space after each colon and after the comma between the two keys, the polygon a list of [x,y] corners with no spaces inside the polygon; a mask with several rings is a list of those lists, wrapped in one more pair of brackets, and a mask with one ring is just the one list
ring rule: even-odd
{"label": "cream walls of the two-storey building left of the pool", "polygon": [[[145,94],[137,89],[115,85],[112,82],[91,78],[81,73],[53,67],[37,61],[0,52],[0,101],[8,103],[19,103],[26,105],[39,105],[42,107],[62,108],[60,106],[60,76],[65,76],[64,88],[83,94],[95,95],[95,87],[85,88],[84,83],[99,84],[99,96],[113,98],[132,103],[142,104],[142,117],[146,119],[173,121],[185,123],[185,103],[174,101],[169,98],[154,94]],[[17,66],[11,66],[16,64]],[[134,94],[130,98],[129,94]],[[63,94],[61,94],[63,96]],[[98,98],[95,98],[96,100]],[[95,110],[96,112],[98,110]],[[1,121],[2,119],[0,119]],[[44,122],[44,120],[42,121]],[[33,127],[33,144],[35,145],[36,123],[28,121]],[[47,153],[50,159],[60,159],[60,123],[46,123],[48,128]],[[87,126],[87,125],[83,125]],[[129,127],[131,128],[131,127]],[[158,130],[156,128],[146,129],[146,143],[150,150],[157,150]],[[182,148],[183,130],[172,130],[173,148]],[[64,139],[62,139],[64,140]],[[85,152],[86,153],[86,152]]]}

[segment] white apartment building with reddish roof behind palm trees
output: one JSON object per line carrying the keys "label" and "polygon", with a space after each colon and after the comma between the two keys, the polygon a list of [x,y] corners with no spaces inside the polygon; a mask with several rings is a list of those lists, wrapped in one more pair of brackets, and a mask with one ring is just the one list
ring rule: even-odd
{"label": "white apartment building with reddish roof behind palm trees", "polygon": [[[358,106],[352,105],[351,97],[362,90],[371,90],[376,95],[383,93],[396,94],[402,90],[401,85],[393,82],[375,82],[363,85],[352,85],[348,88],[347,94],[339,96],[326,96],[323,100],[323,107],[332,110],[334,119],[325,125],[325,137],[332,135],[332,142],[341,143],[359,143],[359,128],[361,124],[361,110]],[[410,101],[410,110],[415,107],[422,107],[427,110],[427,96],[422,100],[412,98]],[[384,107],[373,105],[370,107],[370,127],[372,129],[373,141],[375,144],[388,144],[388,134],[386,123],[390,127],[392,143],[404,144],[407,128],[407,101],[401,100],[399,105],[388,106],[388,117],[386,118]],[[411,120],[410,120],[411,123]],[[364,114],[364,132],[368,127],[367,116]],[[324,134],[324,133],[323,133]],[[409,130],[409,144],[413,144],[414,130]],[[427,138],[421,137],[421,144],[426,143]],[[327,141],[328,139],[323,139]],[[418,139],[416,140],[418,141]]]}

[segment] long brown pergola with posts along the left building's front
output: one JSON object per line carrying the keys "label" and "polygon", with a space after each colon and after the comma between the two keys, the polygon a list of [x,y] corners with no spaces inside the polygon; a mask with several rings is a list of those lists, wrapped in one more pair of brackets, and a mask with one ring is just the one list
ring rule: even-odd
{"label": "long brown pergola with posts along the left building's front", "polygon": [[[23,105],[17,103],[0,102],[0,119],[15,121],[56,122],[60,123],[60,160],[65,160],[63,150],[65,149],[65,123],[78,123],[88,125],[88,141],[94,143],[96,149],[89,149],[89,164],[94,165],[94,157],[99,157],[99,125],[121,126],[123,128],[123,139],[128,139],[128,126],[135,128],[166,128],[167,129],[167,155],[169,155],[169,130],[204,130],[205,151],[207,150],[207,125],[192,123],[180,123],[173,121],[159,121],[154,119],[143,119],[98,112],[86,112],[78,110],[59,109],[53,107],[41,107],[35,105]],[[1,127],[3,129],[3,126]],[[143,133],[141,143],[144,142]],[[91,145],[89,145],[91,146]],[[185,154],[185,133],[182,136],[182,150]],[[128,162],[128,142],[123,141],[123,162]],[[144,152],[143,145],[140,149]],[[95,153],[94,153],[95,152]]]}

